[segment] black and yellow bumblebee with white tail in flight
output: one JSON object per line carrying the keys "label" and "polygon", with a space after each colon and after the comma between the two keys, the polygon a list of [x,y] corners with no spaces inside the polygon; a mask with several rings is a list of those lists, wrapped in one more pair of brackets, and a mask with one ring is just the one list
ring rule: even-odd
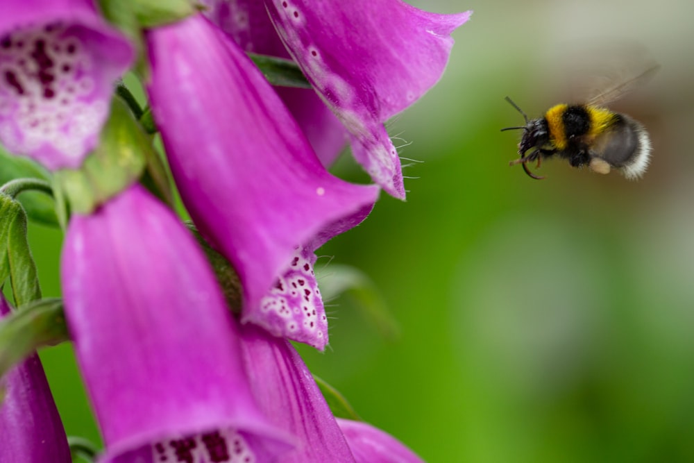
{"label": "black and yellow bumblebee with white tail in flight", "polygon": [[603,105],[652,76],[656,69],[652,67],[636,78],[600,93],[588,103],[552,106],[539,119],[528,119],[507,96],[506,100],[525,118],[525,126],[502,129],[523,131],[518,145],[521,158],[509,164],[522,165],[528,176],[538,180],[544,177],[530,171],[527,164],[537,162],[537,167],[540,167],[545,158],[566,159],[573,167],[587,165],[599,174],[609,174],[611,169],[618,169],[626,178],[641,177],[650,160],[648,133],[638,121]]}

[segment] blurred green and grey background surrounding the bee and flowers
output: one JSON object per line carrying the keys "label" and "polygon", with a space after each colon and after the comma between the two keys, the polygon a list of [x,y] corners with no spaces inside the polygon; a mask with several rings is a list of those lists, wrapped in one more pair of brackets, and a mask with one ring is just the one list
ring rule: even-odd
{"label": "blurred green and grey background surrounding the bee and flowers", "polygon": [[[383,194],[319,252],[334,256],[325,278],[349,264],[373,279],[400,336],[340,297],[330,346],[302,348],[307,363],[429,462],[694,461],[694,3],[410,3],[475,14],[441,83],[389,124],[422,161],[407,202]],[[610,37],[662,66],[613,106],[650,130],[645,178],[509,167],[518,133],[499,129],[522,118],[504,96],[541,115],[563,97],[548,89],[567,44]],[[364,180],[349,158],[335,171]],[[58,296],[62,237],[30,234]],[[99,439],[69,346],[42,358],[68,434]]]}

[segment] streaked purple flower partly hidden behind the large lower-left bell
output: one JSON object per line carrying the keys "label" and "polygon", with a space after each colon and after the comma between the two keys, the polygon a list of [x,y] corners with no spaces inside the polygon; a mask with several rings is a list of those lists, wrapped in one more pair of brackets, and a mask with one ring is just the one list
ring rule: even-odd
{"label": "streaked purple flower partly hidden behind the large lower-left bell", "polygon": [[242,326],[246,371],[253,394],[273,424],[298,438],[282,463],[354,462],[330,407],[289,342]]}

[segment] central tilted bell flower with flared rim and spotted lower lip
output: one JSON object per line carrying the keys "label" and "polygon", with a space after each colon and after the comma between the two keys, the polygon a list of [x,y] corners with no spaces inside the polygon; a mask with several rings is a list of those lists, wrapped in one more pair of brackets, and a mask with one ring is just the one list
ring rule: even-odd
{"label": "central tilted bell flower with flared rim and spotted lower lip", "polygon": [[323,348],[327,328],[315,321],[325,314],[303,305],[316,287],[294,277],[315,283],[316,245],[359,224],[378,187],[330,175],[257,67],[202,15],[146,39],[171,171],[196,226],[239,274],[242,321]]}

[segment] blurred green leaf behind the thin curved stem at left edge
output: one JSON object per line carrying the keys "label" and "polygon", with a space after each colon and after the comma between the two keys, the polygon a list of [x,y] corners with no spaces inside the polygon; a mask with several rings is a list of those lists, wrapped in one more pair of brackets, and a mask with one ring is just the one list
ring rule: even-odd
{"label": "blurred green leaf behind the thin curved stem at left edge", "polygon": [[[11,155],[0,149],[0,185],[15,178],[37,178],[49,182],[50,175],[28,158]],[[58,226],[53,200],[42,192],[25,192],[19,197],[29,219],[48,226]]]}

